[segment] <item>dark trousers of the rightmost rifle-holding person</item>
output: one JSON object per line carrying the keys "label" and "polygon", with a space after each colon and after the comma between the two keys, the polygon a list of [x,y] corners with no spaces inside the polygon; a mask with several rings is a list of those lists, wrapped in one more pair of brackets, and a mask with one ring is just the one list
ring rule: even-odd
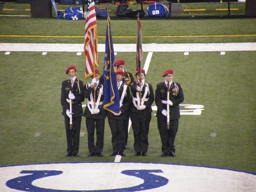
{"label": "dark trousers of the rightmost rifle-holding person", "polygon": [[170,121],[170,129],[166,128],[166,118],[157,118],[158,131],[162,141],[162,153],[175,153],[174,141],[178,131],[179,119]]}

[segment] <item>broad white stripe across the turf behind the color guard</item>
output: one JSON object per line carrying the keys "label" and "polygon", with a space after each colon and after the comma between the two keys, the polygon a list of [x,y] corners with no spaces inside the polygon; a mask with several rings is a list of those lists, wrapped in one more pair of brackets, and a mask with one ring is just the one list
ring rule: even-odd
{"label": "broad white stripe across the turf behind the color guard", "polygon": [[[0,51],[83,52],[84,44],[0,43]],[[144,52],[256,51],[256,43],[142,44]],[[136,44],[114,44],[115,52],[135,52]],[[105,52],[105,44],[98,44]]]}

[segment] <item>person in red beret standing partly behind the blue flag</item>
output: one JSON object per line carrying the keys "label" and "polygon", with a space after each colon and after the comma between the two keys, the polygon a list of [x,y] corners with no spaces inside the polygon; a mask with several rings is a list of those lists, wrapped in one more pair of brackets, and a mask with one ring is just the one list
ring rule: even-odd
{"label": "person in red beret standing partly behind the blue flag", "polygon": [[127,118],[129,113],[129,107],[131,105],[131,94],[128,85],[123,83],[124,71],[117,70],[117,87],[120,99],[120,113],[111,113],[107,111],[108,124],[110,126],[112,134],[112,146],[113,153],[110,156],[121,155],[125,156],[125,140],[124,140],[124,120]]}

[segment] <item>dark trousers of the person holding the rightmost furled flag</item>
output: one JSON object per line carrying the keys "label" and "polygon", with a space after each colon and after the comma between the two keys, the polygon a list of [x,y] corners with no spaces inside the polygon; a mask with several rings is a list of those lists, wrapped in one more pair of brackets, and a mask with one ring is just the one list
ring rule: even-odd
{"label": "dark trousers of the person holding the rightmost furled flag", "polygon": [[143,113],[131,113],[132,130],[134,137],[135,153],[147,153],[148,151],[148,132],[151,121],[151,111]]}

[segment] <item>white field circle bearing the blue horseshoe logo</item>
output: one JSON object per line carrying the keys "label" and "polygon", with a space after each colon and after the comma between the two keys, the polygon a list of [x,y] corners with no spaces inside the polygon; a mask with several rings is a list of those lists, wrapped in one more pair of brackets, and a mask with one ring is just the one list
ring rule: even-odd
{"label": "white field circle bearing the blue horseshoe logo", "polygon": [[[255,173],[161,163],[56,163],[0,167],[0,191],[253,191]],[[245,185],[246,183],[246,185]]]}

